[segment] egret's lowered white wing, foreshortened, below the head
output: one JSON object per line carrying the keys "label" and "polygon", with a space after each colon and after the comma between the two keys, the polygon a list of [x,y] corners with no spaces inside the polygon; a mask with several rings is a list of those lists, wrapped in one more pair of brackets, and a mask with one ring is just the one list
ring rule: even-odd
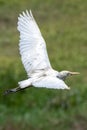
{"label": "egret's lowered white wing, foreshortened, below the head", "polygon": [[53,89],[70,89],[64,81],[58,79],[56,77],[46,76],[38,79],[37,81],[32,83],[35,87],[45,87],[45,88],[53,88]]}

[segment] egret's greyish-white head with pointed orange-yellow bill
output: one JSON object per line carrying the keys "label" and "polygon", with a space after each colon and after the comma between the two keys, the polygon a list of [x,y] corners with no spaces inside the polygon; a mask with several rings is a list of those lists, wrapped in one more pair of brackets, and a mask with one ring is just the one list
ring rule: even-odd
{"label": "egret's greyish-white head with pointed orange-yellow bill", "polygon": [[77,74],[80,74],[80,73],[79,72],[71,72],[71,71],[64,70],[64,71],[60,72],[60,78],[64,80],[68,76],[77,75]]}

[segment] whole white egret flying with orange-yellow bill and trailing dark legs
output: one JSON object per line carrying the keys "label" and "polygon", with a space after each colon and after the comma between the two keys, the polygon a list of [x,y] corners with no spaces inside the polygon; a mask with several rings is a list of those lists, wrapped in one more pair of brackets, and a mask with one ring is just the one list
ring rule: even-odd
{"label": "whole white egret flying with orange-yellow bill and trailing dark legs", "polygon": [[23,12],[18,17],[20,32],[19,50],[21,60],[27,72],[28,79],[18,82],[17,88],[5,91],[5,94],[16,92],[27,87],[45,87],[50,89],[70,89],[64,80],[78,72],[56,71],[51,67],[45,40],[33,17],[31,10]]}

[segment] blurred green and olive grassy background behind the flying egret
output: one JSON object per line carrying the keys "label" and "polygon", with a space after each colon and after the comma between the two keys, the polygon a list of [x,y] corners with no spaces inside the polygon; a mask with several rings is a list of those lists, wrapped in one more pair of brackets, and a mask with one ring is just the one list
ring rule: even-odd
{"label": "blurred green and olive grassy background behind the flying egret", "polygon": [[[30,88],[3,96],[26,79],[17,17],[31,9],[53,68],[78,71],[70,91]],[[87,0],[0,0],[0,130],[87,130]]]}

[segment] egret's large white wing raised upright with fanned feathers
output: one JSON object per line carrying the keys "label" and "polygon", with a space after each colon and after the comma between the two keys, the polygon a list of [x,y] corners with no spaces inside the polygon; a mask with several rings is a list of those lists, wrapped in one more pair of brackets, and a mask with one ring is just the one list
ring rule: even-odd
{"label": "egret's large white wing raised upright with fanned feathers", "polygon": [[20,14],[18,30],[20,32],[19,50],[28,76],[35,70],[51,68],[45,41],[31,11]]}

